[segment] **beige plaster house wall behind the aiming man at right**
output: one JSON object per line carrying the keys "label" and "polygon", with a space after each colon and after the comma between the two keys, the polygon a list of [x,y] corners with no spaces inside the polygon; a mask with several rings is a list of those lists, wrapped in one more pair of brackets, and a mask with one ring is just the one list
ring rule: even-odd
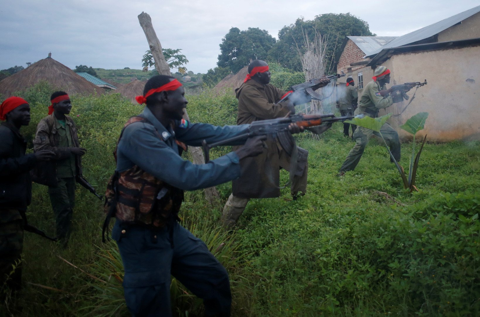
{"label": "beige plaster house wall behind the aiming man at right", "polygon": [[[428,84],[417,90],[414,101],[389,122],[402,138],[410,135],[399,125],[412,115],[428,112],[425,129],[419,136],[430,140],[480,140],[480,46],[405,53],[383,63],[391,72],[390,85],[411,81]],[[390,87],[387,85],[387,87]],[[408,95],[411,97],[411,89]],[[408,101],[395,103],[379,115],[398,114]]]}

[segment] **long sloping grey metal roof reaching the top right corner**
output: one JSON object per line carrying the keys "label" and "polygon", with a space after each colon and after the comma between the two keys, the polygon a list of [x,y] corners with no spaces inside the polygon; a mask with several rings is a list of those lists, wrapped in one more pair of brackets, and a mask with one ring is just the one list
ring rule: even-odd
{"label": "long sloping grey metal roof reaching the top right corner", "polygon": [[436,22],[432,25],[428,25],[425,27],[422,27],[421,29],[418,29],[416,31],[410,32],[408,34],[402,35],[401,37],[398,37],[392,41],[390,41],[388,44],[386,44],[384,47],[378,48],[375,51],[370,52],[369,54],[366,54],[367,56],[372,56],[375,54],[378,54],[380,51],[383,49],[388,49],[392,47],[398,47],[398,46],[404,46],[408,45],[410,43],[415,43],[417,41],[420,41],[425,38],[430,38],[434,36],[435,34],[438,34],[442,32],[443,30],[449,28],[452,25],[456,25],[459,22],[462,22],[463,20],[467,19],[468,17],[472,16],[475,13],[480,12],[480,5],[471,8],[467,11],[464,11],[462,13],[458,13],[454,16],[451,16],[449,18],[446,18],[442,21]]}

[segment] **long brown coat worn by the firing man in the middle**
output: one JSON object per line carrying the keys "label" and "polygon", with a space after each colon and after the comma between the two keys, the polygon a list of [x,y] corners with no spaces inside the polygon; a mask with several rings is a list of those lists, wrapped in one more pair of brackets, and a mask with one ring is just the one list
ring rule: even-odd
{"label": "long brown coat worn by the firing man in the middle", "polygon": [[[239,100],[237,117],[237,124],[239,125],[283,117],[290,111],[288,101],[275,103],[286,92],[271,84],[263,85],[251,79],[243,83],[235,92]],[[232,182],[234,196],[240,198],[274,198],[280,196],[278,152],[281,145],[276,139],[267,139],[266,144],[267,149],[262,154],[247,157],[241,161],[241,177]],[[304,160],[306,162],[306,155]],[[303,168],[305,162],[303,162]],[[300,162],[299,165],[301,164]],[[302,172],[303,170],[299,171],[300,175]]]}

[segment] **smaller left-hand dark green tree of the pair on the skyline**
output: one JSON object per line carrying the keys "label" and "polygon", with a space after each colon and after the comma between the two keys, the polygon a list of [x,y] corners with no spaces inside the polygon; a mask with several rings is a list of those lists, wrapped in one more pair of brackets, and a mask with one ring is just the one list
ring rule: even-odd
{"label": "smaller left-hand dark green tree of the pair on the skyline", "polygon": [[268,51],[275,42],[275,38],[258,27],[249,27],[244,31],[240,31],[238,27],[232,27],[222,38],[216,64],[218,67],[228,68],[233,73],[237,73],[247,66],[251,59],[266,59]]}

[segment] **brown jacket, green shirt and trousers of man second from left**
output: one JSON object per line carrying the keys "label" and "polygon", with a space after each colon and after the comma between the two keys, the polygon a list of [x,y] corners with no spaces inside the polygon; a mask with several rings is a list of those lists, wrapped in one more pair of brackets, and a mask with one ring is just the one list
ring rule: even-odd
{"label": "brown jacket, green shirt and trousers of man second from left", "polygon": [[71,233],[73,207],[75,205],[75,177],[81,175],[81,159],[69,148],[79,147],[77,130],[73,120],[66,115],[58,120],[55,114],[43,118],[38,124],[34,140],[35,151],[51,150],[57,156],[57,186],[48,186],[48,194],[55,214],[57,236],[64,243]]}

